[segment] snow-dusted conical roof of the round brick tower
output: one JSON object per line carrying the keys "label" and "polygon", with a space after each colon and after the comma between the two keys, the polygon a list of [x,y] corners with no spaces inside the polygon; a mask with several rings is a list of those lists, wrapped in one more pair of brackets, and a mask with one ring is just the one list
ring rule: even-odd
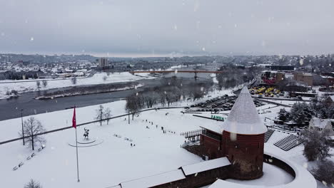
{"label": "snow-dusted conical roof of the round brick tower", "polygon": [[243,135],[260,135],[267,132],[247,87],[241,90],[223,129]]}

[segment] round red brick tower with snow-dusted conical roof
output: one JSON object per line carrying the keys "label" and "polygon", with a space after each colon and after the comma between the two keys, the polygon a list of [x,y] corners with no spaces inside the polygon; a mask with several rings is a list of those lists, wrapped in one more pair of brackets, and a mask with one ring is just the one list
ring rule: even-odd
{"label": "round red brick tower with snow-dusted conical roof", "polygon": [[262,176],[265,132],[267,128],[260,120],[248,88],[244,87],[223,125],[221,149],[231,162],[231,178]]}

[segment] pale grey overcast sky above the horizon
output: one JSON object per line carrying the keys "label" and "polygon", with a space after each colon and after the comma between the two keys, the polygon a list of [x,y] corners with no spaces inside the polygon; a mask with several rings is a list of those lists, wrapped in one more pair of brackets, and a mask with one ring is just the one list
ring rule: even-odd
{"label": "pale grey overcast sky above the horizon", "polygon": [[0,0],[0,53],[334,53],[333,0]]}

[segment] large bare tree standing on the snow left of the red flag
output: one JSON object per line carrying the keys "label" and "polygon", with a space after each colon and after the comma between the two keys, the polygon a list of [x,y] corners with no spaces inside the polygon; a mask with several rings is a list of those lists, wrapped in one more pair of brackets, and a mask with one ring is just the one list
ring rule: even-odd
{"label": "large bare tree standing on the snow left of the red flag", "polygon": [[[29,144],[29,146],[32,147],[32,150],[34,150],[34,147],[37,143],[40,145],[44,144],[46,140],[44,137],[41,137],[39,133],[45,132],[45,129],[43,125],[41,125],[41,122],[37,120],[35,117],[29,117],[28,120],[24,121],[24,132],[19,132],[19,135],[22,137],[26,137],[26,142]],[[22,134],[24,133],[24,134]]]}

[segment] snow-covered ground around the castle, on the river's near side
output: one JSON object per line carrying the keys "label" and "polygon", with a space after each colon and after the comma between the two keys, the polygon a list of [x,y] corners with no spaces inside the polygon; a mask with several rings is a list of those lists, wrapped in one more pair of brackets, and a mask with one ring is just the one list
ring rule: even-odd
{"label": "snow-covered ground around the castle, on the river's near side", "polygon": [[[208,95],[212,98],[216,95],[231,93],[231,90],[222,92],[213,91]],[[204,98],[203,100],[206,100]],[[190,101],[173,104],[183,106]],[[196,101],[197,103],[197,101]],[[111,108],[113,115],[126,113],[125,101],[106,103],[103,106]],[[77,108],[77,123],[93,120],[98,105]],[[274,118],[281,106],[263,105],[260,110],[260,118]],[[21,141],[0,145],[0,177],[1,187],[23,187],[29,179],[33,178],[41,182],[44,187],[109,187],[131,179],[146,177],[153,174],[177,169],[186,164],[200,162],[201,158],[183,150],[180,145],[185,141],[180,132],[198,130],[202,125],[219,127],[223,122],[194,117],[192,114],[181,113],[182,108],[168,110],[150,110],[141,113],[128,125],[128,117],[113,119],[106,125],[85,125],[90,129],[91,139],[102,142],[93,147],[79,147],[80,182],[76,182],[76,150],[69,146],[75,142],[74,129],[63,130],[44,135],[46,148],[41,152],[35,152],[36,156],[31,160],[26,157],[31,155],[31,149],[22,146]],[[287,109],[288,110],[288,109]],[[71,125],[73,110],[61,110],[52,113],[34,115],[41,120],[46,130]],[[228,112],[224,112],[228,113]],[[210,113],[203,114],[210,116]],[[26,119],[27,117],[24,117]],[[126,118],[126,120],[124,119]],[[146,122],[147,120],[147,122]],[[271,122],[266,120],[267,124]],[[152,125],[153,124],[153,125]],[[78,127],[79,140],[82,140],[83,128]],[[167,130],[163,134],[161,127]],[[21,119],[4,120],[0,122],[0,141],[18,137],[21,129]],[[175,134],[173,132],[176,132]],[[113,136],[121,135],[121,137]],[[296,164],[311,169],[315,162],[307,162],[303,157],[303,147],[298,146],[285,152],[273,145],[274,142],[286,137],[283,132],[274,132],[265,143],[265,152],[275,153],[292,160]],[[129,142],[125,137],[133,140]],[[131,143],[136,145],[131,147]],[[333,160],[333,158],[331,159]],[[24,165],[13,171],[12,168],[19,162]],[[282,170],[265,164],[263,180],[254,180],[250,184],[283,184],[289,182],[290,176]],[[271,173],[274,173],[271,174]],[[265,180],[264,180],[265,179]],[[269,180],[272,181],[269,181]],[[232,181],[232,180],[231,180]],[[233,180],[234,181],[234,180]],[[319,183],[321,186],[321,183]]]}

